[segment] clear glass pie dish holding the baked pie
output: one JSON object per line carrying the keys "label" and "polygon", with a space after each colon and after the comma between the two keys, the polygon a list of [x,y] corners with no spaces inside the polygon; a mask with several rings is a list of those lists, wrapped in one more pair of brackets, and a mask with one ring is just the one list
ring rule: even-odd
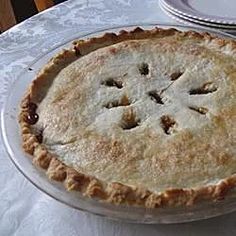
{"label": "clear glass pie dish holding the baked pie", "polygon": [[103,35],[105,32],[119,32],[122,29],[131,30],[137,26],[144,29],[151,29],[158,26],[162,28],[177,28],[182,31],[208,31],[212,34],[218,35],[219,37],[231,37],[230,35],[217,31],[209,31],[204,28],[153,23],[102,29],[94,33],[89,33],[86,35],[78,34],[73,37],[70,36],[63,39],[59,46],[46,52],[37,60],[32,62],[29,68],[26,68],[18,79],[12,84],[11,90],[9,91],[8,97],[1,111],[3,141],[11,160],[31,183],[52,198],[75,209],[88,211],[108,218],[135,223],[179,223],[205,219],[236,210],[234,195],[230,195],[224,199],[224,201],[220,202],[204,202],[191,207],[181,208],[146,209],[102,203],[94,199],[83,197],[78,192],[67,192],[61,183],[49,181],[44,171],[35,167],[32,164],[30,156],[25,154],[21,148],[21,136],[18,125],[19,104],[28,85],[35,78],[37,71],[41,69],[47,61],[62,48],[70,47],[73,40],[91,38]]}

